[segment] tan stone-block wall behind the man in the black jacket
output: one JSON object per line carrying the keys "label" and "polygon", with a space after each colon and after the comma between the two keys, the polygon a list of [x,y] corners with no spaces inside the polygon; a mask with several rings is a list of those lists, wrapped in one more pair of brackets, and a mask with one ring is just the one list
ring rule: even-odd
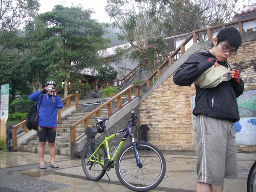
{"label": "tan stone-block wall behind the man in the black jacket", "polygon": [[[252,64],[256,59],[256,41],[242,43],[237,52],[229,58],[230,66],[246,67],[241,70],[240,75],[247,80],[244,90],[256,90],[256,65]],[[179,87],[170,76],[140,104],[140,125],[146,124],[150,128],[148,142],[157,145],[161,150],[196,151],[193,95],[194,84],[191,87]],[[238,151],[256,151],[256,145],[237,146]]]}

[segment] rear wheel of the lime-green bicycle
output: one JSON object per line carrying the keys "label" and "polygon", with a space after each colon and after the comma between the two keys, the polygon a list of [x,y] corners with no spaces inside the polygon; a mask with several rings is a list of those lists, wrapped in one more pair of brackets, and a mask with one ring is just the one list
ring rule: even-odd
{"label": "rear wheel of the lime-green bicycle", "polygon": [[[91,139],[87,141],[87,143],[84,145],[84,149],[81,155],[84,173],[88,177],[88,179],[93,181],[100,180],[106,172],[106,170],[103,169],[103,166],[101,166],[99,163],[95,163],[89,160],[89,157],[96,150],[99,143],[100,141],[96,139]],[[103,161],[105,157],[107,157],[106,149],[101,146],[99,150],[93,155],[92,159]]]}

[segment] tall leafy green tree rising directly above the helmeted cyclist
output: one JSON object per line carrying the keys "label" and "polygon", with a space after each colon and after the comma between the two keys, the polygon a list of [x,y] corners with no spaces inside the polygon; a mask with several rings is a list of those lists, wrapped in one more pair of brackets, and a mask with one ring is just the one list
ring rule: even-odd
{"label": "tall leafy green tree rising directly above the helmeted cyclist", "polygon": [[81,6],[64,7],[56,5],[51,12],[38,16],[46,26],[47,42],[57,45],[47,58],[54,63],[47,67],[50,78],[64,81],[64,96],[73,73],[98,64],[96,44],[104,42],[102,26],[91,19],[92,11]]}

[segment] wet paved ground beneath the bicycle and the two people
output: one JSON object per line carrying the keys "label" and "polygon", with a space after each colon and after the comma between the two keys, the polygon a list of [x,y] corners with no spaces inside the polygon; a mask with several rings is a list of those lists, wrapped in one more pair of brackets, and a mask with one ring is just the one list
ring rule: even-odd
{"label": "wet paved ground beneath the bicycle and the two people", "polygon": [[[162,151],[166,159],[166,175],[152,192],[195,192],[195,152]],[[0,192],[130,192],[111,169],[99,181],[84,175],[81,159],[56,155],[58,169],[50,168],[50,157],[45,155],[47,169],[39,169],[38,154],[0,151]],[[225,179],[224,192],[246,192],[247,175],[256,160],[254,153],[238,153],[238,179]],[[110,180],[108,179],[110,178]]]}

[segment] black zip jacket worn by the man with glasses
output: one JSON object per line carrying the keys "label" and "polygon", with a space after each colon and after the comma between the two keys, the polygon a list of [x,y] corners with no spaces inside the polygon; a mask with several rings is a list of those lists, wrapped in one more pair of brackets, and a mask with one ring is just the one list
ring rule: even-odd
{"label": "black zip jacket worn by the man with glasses", "polygon": [[[200,51],[189,58],[175,71],[173,81],[179,86],[191,86],[201,73],[212,67],[214,60],[207,61],[213,55],[209,51]],[[225,66],[225,62],[218,64]],[[226,62],[227,63],[227,62]],[[244,81],[240,78],[222,81],[216,87],[202,89],[195,85],[195,108],[193,114],[197,116],[202,113],[217,119],[229,119],[233,122],[239,121],[239,110],[236,98],[244,91]]]}

